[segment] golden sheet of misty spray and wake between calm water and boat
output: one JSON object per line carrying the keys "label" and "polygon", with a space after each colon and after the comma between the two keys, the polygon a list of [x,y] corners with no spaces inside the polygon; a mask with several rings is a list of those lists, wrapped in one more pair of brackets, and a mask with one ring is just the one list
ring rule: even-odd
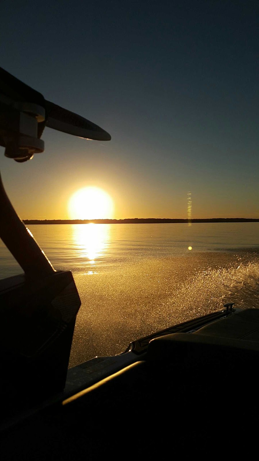
{"label": "golden sheet of misty spray and wake between calm water and boat", "polygon": [[227,302],[259,308],[254,251],[133,258],[74,277],[82,307],[70,366],[95,355],[120,354],[137,338],[219,311]]}

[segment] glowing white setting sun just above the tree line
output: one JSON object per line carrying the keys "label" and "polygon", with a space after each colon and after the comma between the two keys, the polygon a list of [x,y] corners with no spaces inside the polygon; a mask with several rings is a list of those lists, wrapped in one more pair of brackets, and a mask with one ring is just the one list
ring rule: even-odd
{"label": "glowing white setting sun just above the tree line", "polygon": [[71,219],[112,219],[113,201],[98,187],[84,187],[71,196],[68,210]]}

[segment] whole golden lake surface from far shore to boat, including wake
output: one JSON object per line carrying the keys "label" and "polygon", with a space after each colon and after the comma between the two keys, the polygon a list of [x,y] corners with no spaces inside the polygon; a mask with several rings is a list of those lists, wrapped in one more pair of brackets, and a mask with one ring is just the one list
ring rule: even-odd
{"label": "whole golden lake surface from far shore to boat, including wake", "polygon": [[[70,366],[223,307],[259,307],[259,223],[30,225],[81,297]],[[188,247],[192,247],[191,250]],[[0,242],[0,278],[21,273]]]}

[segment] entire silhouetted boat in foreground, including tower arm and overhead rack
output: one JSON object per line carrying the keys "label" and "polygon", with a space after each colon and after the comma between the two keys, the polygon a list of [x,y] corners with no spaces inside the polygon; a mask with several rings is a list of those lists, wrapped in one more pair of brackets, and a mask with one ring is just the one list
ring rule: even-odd
{"label": "entire silhouetted boat in foreground, including tower arm and overhead rack", "polygon": [[[110,135],[0,70],[0,145],[17,162],[44,151],[45,126]],[[223,310],[68,369],[80,299],[0,184],[0,237],[24,275],[0,281],[4,460],[240,455],[256,445],[259,310]],[[255,435],[255,437],[254,437]]]}

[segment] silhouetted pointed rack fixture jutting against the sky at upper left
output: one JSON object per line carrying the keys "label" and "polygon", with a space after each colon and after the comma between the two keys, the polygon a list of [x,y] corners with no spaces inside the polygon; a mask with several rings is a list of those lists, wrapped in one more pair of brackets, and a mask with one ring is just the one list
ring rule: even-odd
{"label": "silhouetted pointed rack fixture jutting against the sky at upper left", "polygon": [[111,136],[86,118],[47,101],[0,68],[0,145],[18,162],[44,151],[45,126],[85,139],[109,141]]}

